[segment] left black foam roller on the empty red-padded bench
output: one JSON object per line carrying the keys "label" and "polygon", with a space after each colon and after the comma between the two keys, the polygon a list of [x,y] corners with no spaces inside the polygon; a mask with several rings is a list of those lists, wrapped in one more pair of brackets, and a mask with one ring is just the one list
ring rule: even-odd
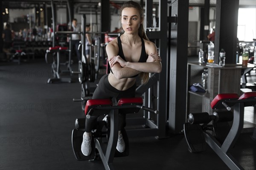
{"label": "left black foam roller on the empty red-padded bench", "polygon": [[208,124],[212,118],[207,112],[190,113],[188,117],[190,124]]}

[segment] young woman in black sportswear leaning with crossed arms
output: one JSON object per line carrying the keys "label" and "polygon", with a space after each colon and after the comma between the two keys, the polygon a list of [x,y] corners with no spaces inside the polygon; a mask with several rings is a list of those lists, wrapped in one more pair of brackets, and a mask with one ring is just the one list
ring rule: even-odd
{"label": "young woman in black sportswear leaning with crossed arms", "polygon": [[[157,48],[145,35],[143,8],[139,3],[128,1],[120,9],[120,20],[124,33],[106,46],[111,73],[104,75],[93,93],[93,99],[135,97],[136,77],[142,83],[148,81],[149,72],[160,73],[161,58]],[[81,151],[85,156],[91,152],[91,131],[96,116],[86,119]],[[121,130],[125,127],[125,115],[119,114],[119,135],[116,149],[124,152],[125,142]]]}

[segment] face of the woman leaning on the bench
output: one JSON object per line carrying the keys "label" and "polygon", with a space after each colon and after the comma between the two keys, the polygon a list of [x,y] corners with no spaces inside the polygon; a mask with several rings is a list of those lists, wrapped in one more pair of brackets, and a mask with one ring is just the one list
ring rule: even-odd
{"label": "face of the woman leaning on the bench", "polygon": [[125,8],[122,10],[121,16],[122,28],[127,34],[134,34],[138,32],[142,20],[140,13],[134,8]]}

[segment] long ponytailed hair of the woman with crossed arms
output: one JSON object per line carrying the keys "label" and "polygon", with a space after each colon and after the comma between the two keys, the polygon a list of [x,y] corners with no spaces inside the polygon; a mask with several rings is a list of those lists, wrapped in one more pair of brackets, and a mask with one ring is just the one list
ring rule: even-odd
{"label": "long ponytailed hair of the woman with crossed arms", "polygon": [[[143,27],[143,20],[144,20],[143,7],[139,3],[130,0],[126,3],[124,3],[122,5],[122,7],[120,8],[120,18],[122,17],[122,10],[125,9],[125,8],[134,8],[134,9],[138,10],[138,12],[140,13],[140,19],[142,20],[142,23],[140,24],[140,27],[139,27],[139,30],[138,30],[139,36],[144,38],[145,40],[149,40],[146,33],[145,33],[144,27]],[[148,72],[141,72],[140,73],[140,78],[141,78],[141,83],[146,84],[148,82],[148,79],[149,79],[149,73]]]}

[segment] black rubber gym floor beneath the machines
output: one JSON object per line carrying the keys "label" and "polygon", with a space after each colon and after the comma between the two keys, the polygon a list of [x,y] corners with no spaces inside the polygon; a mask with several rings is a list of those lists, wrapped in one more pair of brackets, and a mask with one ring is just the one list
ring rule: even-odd
{"label": "black rubber gym floor beneath the machines", "polygon": [[[74,66],[74,69],[77,67]],[[68,84],[47,84],[43,60],[1,63],[0,169],[103,170],[101,161],[77,161],[71,146],[75,119],[84,117],[77,77]],[[256,142],[243,133],[231,153],[246,170],[256,169]],[[228,170],[207,146],[189,153],[184,135],[130,138],[130,155],[115,158],[116,170]]]}

